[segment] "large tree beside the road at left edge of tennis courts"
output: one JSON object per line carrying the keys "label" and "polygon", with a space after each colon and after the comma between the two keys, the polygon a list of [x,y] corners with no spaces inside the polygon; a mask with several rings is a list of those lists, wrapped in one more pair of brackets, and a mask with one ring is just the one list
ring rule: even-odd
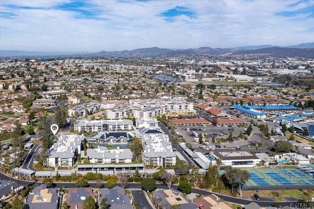
{"label": "large tree beside the road at left edge of tennis courts", "polygon": [[241,184],[248,181],[250,178],[250,173],[247,170],[241,170],[239,168],[227,167],[225,173],[222,176],[223,181],[226,184],[231,185],[232,192],[234,187],[240,192],[240,197],[242,197]]}

